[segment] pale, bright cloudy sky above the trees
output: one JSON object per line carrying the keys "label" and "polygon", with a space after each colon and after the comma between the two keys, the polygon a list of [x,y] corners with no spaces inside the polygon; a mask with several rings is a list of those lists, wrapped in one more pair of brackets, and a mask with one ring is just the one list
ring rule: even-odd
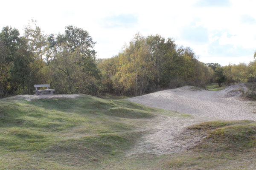
{"label": "pale, bright cloudy sky above the trees", "polygon": [[0,28],[34,19],[45,34],[73,25],[96,42],[97,58],[118,54],[136,33],[171,37],[199,61],[249,63],[256,50],[256,0],[10,0],[2,1]]}

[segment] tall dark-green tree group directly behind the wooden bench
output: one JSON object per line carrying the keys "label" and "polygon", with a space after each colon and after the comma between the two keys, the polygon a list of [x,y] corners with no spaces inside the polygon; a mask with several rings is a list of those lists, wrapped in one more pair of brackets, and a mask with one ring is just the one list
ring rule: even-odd
{"label": "tall dark-green tree group directly behind the wooden bench", "polygon": [[45,35],[35,22],[20,36],[6,26],[0,33],[0,96],[32,94],[34,84],[51,84],[57,94],[95,95],[100,84],[96,51],[87,31],[67,26]]}

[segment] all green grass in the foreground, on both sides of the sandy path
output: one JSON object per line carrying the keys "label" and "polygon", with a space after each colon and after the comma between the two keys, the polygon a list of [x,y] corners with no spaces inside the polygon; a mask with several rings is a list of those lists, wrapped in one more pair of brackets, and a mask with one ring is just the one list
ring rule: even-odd
{"label": "all green grass in the foreground, on both sides of the sandy path", "polygon": [[0,170],[239,170],[256,167],[256,122],[211,121],[187,128],[205,136],[181,153],[126,155],[155,116],[189,115],[127,100],[0,100]]}

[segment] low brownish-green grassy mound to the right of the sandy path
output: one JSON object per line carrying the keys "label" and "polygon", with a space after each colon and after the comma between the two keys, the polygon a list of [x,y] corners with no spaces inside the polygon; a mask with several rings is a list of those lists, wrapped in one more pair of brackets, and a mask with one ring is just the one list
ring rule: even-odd
{"label": "low brownish-green grassy mound to the right of the sandy path", "polygon": [[198,147],[207,150],[244,150],[256,147],[256,122],[250,120],[212,121],[189,129],[206,130]]}

